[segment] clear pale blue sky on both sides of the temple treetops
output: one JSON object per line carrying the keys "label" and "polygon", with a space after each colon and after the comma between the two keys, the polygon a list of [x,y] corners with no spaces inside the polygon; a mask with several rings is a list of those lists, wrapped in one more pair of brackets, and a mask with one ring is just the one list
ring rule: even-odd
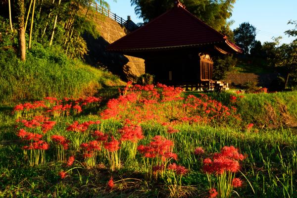
{"label": "clear pale blue sky on both sides of the temple treetops", "polygon": [[[110,4],[111,12],[124,19],[127,15],[131,15],[135,23],[142,21],[135,15],[130,0],[106,1]],[[255,26],[256,40],[262,43],[272,41],[273,36],[282,36],[283,43],[290,43],[292,37],[288,38],[284,34],[284,31],[294,28],[292,25],[287,25],[290,19],[297,20],[297,0],[237,0],[230,18],[234,20],[232,29],[239,27],[243,22]]]}

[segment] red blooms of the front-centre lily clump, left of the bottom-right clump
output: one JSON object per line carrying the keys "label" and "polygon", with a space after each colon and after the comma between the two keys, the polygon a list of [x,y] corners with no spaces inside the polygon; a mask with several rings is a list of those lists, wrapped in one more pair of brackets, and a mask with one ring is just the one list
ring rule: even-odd
{"label": "red blooms of the front-centre lily clump, left of the bottom-right clump", "polygon": [[140,153],[143,153],[145,157],[173,157],[177,158],[177,155],[172,153],[170,150],[173,148],[173,142],[167,140],[161,136],[155,136],[152,138],[152,142],[148,146],[140,145],[137,149]]}

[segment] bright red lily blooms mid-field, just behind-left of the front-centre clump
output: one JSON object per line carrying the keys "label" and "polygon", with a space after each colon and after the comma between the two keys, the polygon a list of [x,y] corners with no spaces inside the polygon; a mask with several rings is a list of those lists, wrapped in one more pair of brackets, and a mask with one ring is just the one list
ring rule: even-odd
{"label": "bright red lily blooms mid-field, just behind-left of the front-centre clump", "polygon": [[137,142],[144,138],[142,128],[138,125],[124,126],[119,130],[119,133],[121,134],[121,141]]}

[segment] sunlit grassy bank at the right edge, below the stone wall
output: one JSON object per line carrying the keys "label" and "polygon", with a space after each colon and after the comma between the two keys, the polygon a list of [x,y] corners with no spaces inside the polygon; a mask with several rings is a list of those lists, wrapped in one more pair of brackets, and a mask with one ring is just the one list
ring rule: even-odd
{"label": "sunlit grassy bank at the right edge, below the stone wall", "polygon": [[[198,92],[187,92],[198,96]],[[278,92],[271,94],[245,94],[244,98],[232,92],[209,93],[213,99],[221,101],[225,105],[230,104],[230,96],[238,97],[236,107],[241,114],[243,122],[253,123],[264,127],[286,127],[297,125],[297,91]]]}

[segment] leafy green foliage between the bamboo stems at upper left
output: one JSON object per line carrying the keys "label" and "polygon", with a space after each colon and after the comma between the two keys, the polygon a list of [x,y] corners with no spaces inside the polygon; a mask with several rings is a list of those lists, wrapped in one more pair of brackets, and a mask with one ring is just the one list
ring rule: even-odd
{"label": "leafy green foliage between the bamboo stems at upper left", "polygon": [[[36,3],[34,13],[34,24],[32,33],[32,46],[39,43],[43,46],[48,46],[53,32],[54,19],[57,16],[57,24],[54,29],[53,44],[62,48],[61,51],[67,52],[71,58],[82,58],[88,51],[86,42],[80,37],[79,33],[91,34],[95,38],[99,36],[96,31],[96,24],[92,21],[83,20],[83,10],[90,5],[90,0],[62,0],[58,4],[58,0],[43,0]],[[98,2],[99,3],[99,2]],[[100,3],[108,7],[108,3],[104,0]],[[25,1],[24,12],[15,10],[14,18],[18,19],[21,16],[26,16],[29,12],[30,0]],[[32,6],[33,7],[33,6]],[[31,26],[32,7],[27,24],[26,34],[29,34]],[[11,33],[9,21],[6,15],[0,13],[0,47],[17,49],[17,34]],[[3,21],[3,23],[2,23]],[[13,24],[16,27],[16,24]],[[15,28],[14,28],[15,29]],[[26,39],[28,41],[28,39]],[[39,50],[39,49],[37,49]]]}

